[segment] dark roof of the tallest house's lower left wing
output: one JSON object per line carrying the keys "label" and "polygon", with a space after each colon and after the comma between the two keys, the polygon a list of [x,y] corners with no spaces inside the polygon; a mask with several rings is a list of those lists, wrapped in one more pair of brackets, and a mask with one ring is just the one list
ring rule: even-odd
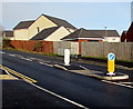
{"label": "dark roof of the tallest house's lower left wing", "polygon": [[35,20],[30,21],[21,21],[13,29],[27,29],[29,28]]}

